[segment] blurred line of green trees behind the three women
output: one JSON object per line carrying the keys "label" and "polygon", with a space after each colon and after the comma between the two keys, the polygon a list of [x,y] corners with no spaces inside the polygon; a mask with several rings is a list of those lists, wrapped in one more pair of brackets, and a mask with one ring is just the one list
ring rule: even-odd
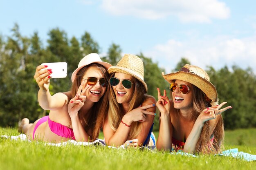
{"label": "blurred line of green trees behind the three women", "polygon": [[[69,39],[67,33],[59,28],[48,32],[47,45],[44,46],[34,32],[31,37],[22,36],[18,24],[11,29],[11,36],[0,35],[0,126],[17,126],[18,121],[28,117],[34,122],[39,117],[48,114],[48,110],[40,108],[37,101],[38,85],[34,80],[36,66],[44,62],[67,62],[67,77],[50,80],[50,92],[69,91],[71,75],[77,68],[83,56],[89,53],[100,53],[100,46],[90,33],[86,32],[81,38]],[[118,44],[112,43],[103,61],[116,65],[121,59],[122,50]],[[144,62],[144,80],[148,85],[148,94],[157,99],[157,87],[168,90],[168,82],[162,77],[165,71],[143,53],[135,54]],[[188,59],[181,57],[173,71],[178,71],[184,64],[191,64]],[[220,102],[228,102],[233,106],[222,113],[225,128],[256,127],[256,76],[251,68],[243,70],[227,66],[215,70],[207,68],[211,82],[216,86]],[[159,122],[155,118],[154,130],[158,130]]]}

